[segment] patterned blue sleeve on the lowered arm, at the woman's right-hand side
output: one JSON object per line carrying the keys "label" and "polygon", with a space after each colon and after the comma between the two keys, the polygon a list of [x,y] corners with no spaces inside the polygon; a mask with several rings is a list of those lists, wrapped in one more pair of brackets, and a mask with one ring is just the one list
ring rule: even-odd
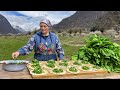
{"label": "patterned blue sleeve on the lowered arm, at the woman's right-hand side", "polygon": [[56,52],[58,54],[59,59],[63,60],[64,59],[64,50],[61,46],[61,43],[60,43],[60,40],[58,37],[56,39]]}

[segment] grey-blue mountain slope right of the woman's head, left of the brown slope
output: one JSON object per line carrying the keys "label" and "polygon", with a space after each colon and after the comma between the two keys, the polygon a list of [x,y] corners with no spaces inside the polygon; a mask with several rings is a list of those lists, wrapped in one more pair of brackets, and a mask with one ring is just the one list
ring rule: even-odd
{"label": "grey-blue mountain slope right of the woman's head, left of the brown slope", "polygon": [[72,16],[63,19],[53,26],[54,29],[71,29],[91,26],[96,19],[106,14],[106,11],[77,11]]}

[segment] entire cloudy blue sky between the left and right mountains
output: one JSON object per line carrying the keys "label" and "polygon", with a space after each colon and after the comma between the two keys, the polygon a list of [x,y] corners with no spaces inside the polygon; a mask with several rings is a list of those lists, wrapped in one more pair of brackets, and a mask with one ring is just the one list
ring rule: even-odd
{"label": "entire cloudy blue sky between the left and right mountains", "polygon": [[52,24],[59,23],[62,19],[73,15],[76,11],[0,11],[11,25],[17,25],[26,31],[39,28],[42,18],[48,18]]}

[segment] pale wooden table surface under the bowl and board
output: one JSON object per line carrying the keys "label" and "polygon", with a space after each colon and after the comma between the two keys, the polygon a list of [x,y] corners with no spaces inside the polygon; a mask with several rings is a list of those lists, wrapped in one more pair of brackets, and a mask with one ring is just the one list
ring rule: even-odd
{"label": "pale wooden table surface under the bowl and board", "polygon": [[[55,79],[118,79],[118,78],[120,79],[119,73],[108,73],[108,74],[60,77]],[[2,69],[2,65],[0,64],[0,79],[32,79],[32,77],[29,74],[27,68],[20,72],[7,72]]]}

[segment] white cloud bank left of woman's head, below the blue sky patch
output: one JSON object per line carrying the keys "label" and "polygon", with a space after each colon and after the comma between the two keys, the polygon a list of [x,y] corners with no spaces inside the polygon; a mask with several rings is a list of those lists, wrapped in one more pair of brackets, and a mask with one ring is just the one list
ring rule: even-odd
{"label": "white cloud bank left of woman's head, below the blue sky patch", "polygon": [[25,31],[31,31],[34,28],[39,28],[39,20],[35,17],[28,19],[25,16],[4,15],[11,25],[17,25]]}

